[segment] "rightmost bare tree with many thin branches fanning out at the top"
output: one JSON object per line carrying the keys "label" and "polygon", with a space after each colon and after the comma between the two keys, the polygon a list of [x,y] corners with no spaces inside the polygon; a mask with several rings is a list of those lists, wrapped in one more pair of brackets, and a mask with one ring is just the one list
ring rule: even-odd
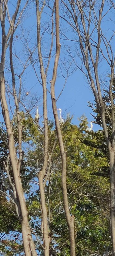
{"label": "rightmost bare tree with many thin branches fanning out at the top", "polygon": [[[115,14],[115,4],[111,0],[62,0],[61,3],[63,6],[61,8],[61,17],[70,25],[70,28],[75,33],[75,37],[77,37],[77,40],[73,39],[77,43],[78,50],[76,49],[76,51],[79,52],[77,54],[77,61],[75,61],[74,56],[75,65],[88,79],[104,128],[110,158],[112,255],[115,255],[115,108],[112,93],[115,68],[115,47],[113,44],[115,42],[115,32],[112,31],[112,27],[114,28],[113,15]],[[111,27],[110,31],[106,28],[108,23],[109,28]],[[72,52],[69,51],[69,53],[72,55]],[[101,63],[103,65],[102,73]],[[103,86],[108,83],[107,71],[110,74],[108,86],[110,113],[107,112],[108,103],[106,104],[103,98]],[[106,114],[112,127],[111,134],[108,130]]]}

